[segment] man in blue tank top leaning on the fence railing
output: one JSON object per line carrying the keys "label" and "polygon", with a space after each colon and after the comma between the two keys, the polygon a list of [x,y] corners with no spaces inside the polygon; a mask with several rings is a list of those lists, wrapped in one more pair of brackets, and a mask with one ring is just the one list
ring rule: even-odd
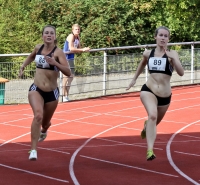
{"label": "man in blue tank top leaning on the fence railing", "polygon": [[69,63],[72,75],[70,77],[64,76],[63,78],[63,102],[69,101],[69,89],[75,75],[74,53],[87,52],[90,50],[89,47],[81,48],[79,34],[80,26],[78,24],[74,24],[72,26],[72,33],[67,36],[64,43],[63,52],[66,54],[66,59]]}

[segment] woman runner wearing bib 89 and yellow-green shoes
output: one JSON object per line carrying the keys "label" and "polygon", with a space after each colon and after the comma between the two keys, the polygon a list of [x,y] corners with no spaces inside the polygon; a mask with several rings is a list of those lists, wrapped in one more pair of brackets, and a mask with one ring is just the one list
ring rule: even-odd
{"label": "woman runner wearing bib 89 and yellow-green shoes", "polygon": [[148,65],[149,77],[142,86],[140,99],[147,111],[148,120],[144,122],[144,129],[141,137],[147,138],[147,160],[153,160],[156,155],[153,152],[156,139],[156,126],[161,122],[171,101],[170,79],[175,69],[178,75],[183,76],[184,70],[180,63],[178,53],[175,50],[167,49],[167,43],[170,38],[170,31],[167,27],[161,26],[155,31],[156,48],[145,50],[143,59],[140,62],[137,71],[129,84],[129,90],[138,76]]}

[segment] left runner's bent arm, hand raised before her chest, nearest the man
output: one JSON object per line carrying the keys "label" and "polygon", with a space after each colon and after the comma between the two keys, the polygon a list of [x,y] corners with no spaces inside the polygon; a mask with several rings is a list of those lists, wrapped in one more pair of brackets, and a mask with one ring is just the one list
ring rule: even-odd
{"label": "left runner's bent arm, hand raised before her chest, nearest the man", "polygon": [[[58,58],[59,63],[56,61],[56,58]],[[49,64],[56,66],[64,75],[71,76],[69,63],[64,52],[60,48],[56,49],[52,57],[45,56],[45,59]]]}

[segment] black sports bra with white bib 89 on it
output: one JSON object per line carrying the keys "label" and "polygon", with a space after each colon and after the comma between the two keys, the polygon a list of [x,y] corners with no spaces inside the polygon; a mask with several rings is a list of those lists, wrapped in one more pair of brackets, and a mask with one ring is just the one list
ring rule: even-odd
{"label": "black sports bra with white bib 89 on it", "polygon": [[172,76],[174,70],[173,66],[169,63],[166,53],[162,57],[154,57],[155,49],[153,49],[148,59],[149,73],[163,73]]}

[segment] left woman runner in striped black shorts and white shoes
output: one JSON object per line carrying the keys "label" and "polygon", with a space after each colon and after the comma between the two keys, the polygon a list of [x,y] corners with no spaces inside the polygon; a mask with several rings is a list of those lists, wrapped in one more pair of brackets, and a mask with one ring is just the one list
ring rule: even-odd
{"label": "left woman runner in striped black shorts and white shoes", "polygon": [[25,67],[35,60],[36,73],[28,93],[29,103],[34,114],[31,125],[29,160],[37,160],[37,143],[46,138],[47,130],[51,126],[51,118],[59,99],[57,84],[59,70],[66,76],[71,75],[65,54],[56,46],[56,29],[51,25],[45,26],[42,31],[42,39],[43,44],[35,46],[19,71],[21,77]]}

